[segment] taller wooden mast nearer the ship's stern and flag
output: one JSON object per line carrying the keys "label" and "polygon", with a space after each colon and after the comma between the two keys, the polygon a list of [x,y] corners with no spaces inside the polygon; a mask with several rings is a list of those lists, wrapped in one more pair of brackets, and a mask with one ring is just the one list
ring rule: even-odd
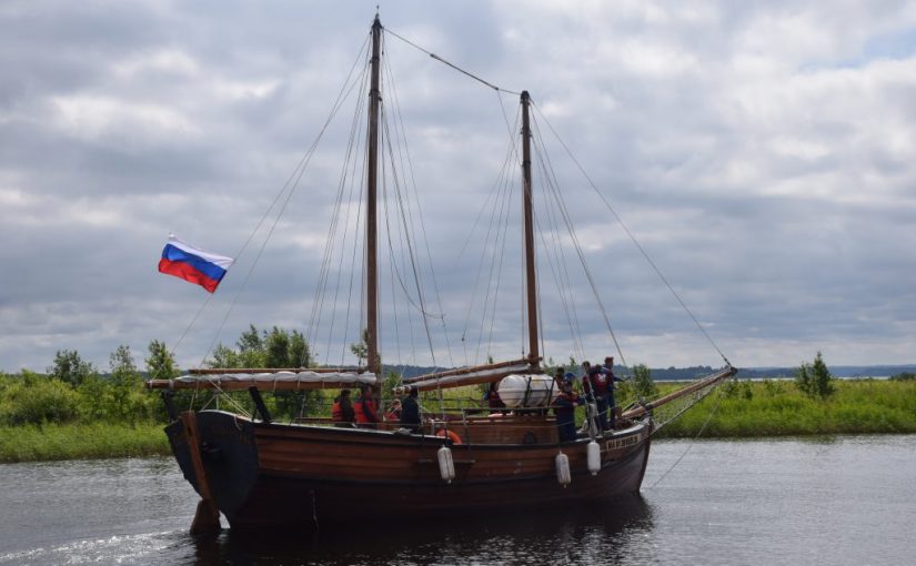
{"label": "taller wooden mast nearer the ship's stern and flag", "polygon": [[379,358],[379,244],[376,221],[376,186],[379,182],[379,107],[382,95],[379,90],[381,61],[382,22],[379,14],[372,23],[371,85],[369,89],[369,141],[366,143],[366,212],[365,212],[365,287],[366,287],[366,363],[369,371],[380,375]]}

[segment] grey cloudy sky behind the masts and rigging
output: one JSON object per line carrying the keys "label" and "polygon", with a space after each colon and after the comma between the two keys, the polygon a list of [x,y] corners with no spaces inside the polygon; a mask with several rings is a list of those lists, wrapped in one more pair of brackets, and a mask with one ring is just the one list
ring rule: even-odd
{"label": "grey cloudy sky behind the masts and rigging", "polygon": [[[344,357],[360,321],[341,297],[361,295],[345,254],[330,263],[338,302],[318,316],[314,291],[355,94],[295,191],[283,190],[361,61],[376,4],[386,30],[532,94],[614,330],[584,269],[563,269],[563,292],[542,272],[545,355],[667,367],[718,366],[722,352],[758,367],[819,351],[828,364],[916,363],[916,2],[6,0],[0,371],[43,371],[62,350],[105,370],[122,344],[142,366],[152,340],[189,367],[249,324],[306,333],[319,362]],[[487,264],[464,244],[480,244],[477,219],[495,210],[517,95],[384,42],[396,88],[385,109],[404,129],[419,195],[414,252],[437,291],[413,307],[445,334],[427,340],[422,321],[402,317],[383,360],[430,362],[407,342],[430,344],[439,365],[515,357],[519,254],[505,253],[507,306],[472,324],[490,296],[474,291]],[[275,222],[271,203],[288,194]],[[535,205],[538,239],[575,259],[571,236],[550,230],[551,208]],[[505,222],[514,246],[521,219]],[[238,257],[213,296],[157,272],[169,233]],[[412,276],[381,276],[391,326],[411,310],[396,289]],[[561,296],[576,303],[577,343],[564,337]]]}

